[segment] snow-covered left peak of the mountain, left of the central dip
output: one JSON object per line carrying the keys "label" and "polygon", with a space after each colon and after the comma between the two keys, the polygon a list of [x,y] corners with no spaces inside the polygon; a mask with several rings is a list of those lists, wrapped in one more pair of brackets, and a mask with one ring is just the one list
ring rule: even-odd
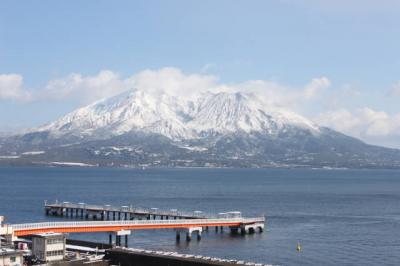
{"label": "snow-covered left peak of the mountain, left of the central dip", "polygon": [[129,91],[80,108],[39,131],[90,136],[99,130],[111,135],[144,130],[171,138],[188,137],[180,117],[187,112],[185,103],[171,96]]}

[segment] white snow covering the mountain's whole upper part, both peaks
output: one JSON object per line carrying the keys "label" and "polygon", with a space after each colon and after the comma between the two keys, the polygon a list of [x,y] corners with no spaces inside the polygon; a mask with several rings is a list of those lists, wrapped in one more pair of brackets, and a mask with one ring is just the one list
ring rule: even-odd
{"label": "white snow covering the mountain's whole upper part, both peaks", "polygon": [[288,127],[319,133],[319,127],[306,118],[267,106],[253,94],[209,92],[186,99],[130,90],[80,108],[35,131],[49,131],[53,137],[143,131],[183,140],[239,131],[278,134]]}

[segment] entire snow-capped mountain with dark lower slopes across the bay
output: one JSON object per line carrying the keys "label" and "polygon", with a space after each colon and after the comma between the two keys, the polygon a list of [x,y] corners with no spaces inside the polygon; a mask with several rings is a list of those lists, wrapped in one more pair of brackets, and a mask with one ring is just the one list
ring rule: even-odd
{"label": "entire snow-capped mountain with dark lower slopes across the bay", "polygon": [[1,164],[400,168],[400,151],[319,127],[254,94],[131,90],[0,138]]}

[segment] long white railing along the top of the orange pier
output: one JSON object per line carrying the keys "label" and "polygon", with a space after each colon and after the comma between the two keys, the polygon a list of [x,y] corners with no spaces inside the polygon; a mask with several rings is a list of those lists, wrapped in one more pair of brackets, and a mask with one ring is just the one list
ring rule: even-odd
{"label": "long white railing along the top of the orange pier", "polygon": [[186,220],[117,220],[117,221],[76,221],[76,222],[43,222],[11,225],[14,231],[51,228],[76,228],[76,227],[124,227],[135,225],[203,225],[208,224],[252,224],[264,223],[265,217],[256,218],[220,218],[220,219],[186,219]]}

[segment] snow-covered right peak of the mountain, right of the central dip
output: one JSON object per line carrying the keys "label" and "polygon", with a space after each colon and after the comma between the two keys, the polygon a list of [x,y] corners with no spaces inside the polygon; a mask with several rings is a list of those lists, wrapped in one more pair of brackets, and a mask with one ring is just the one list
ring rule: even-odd
{"label": "snow-covered right peak of the mountain, right of the central dip", "polygon": [[218,133],[241,130],[277,134],[288,125],[319,132],[318,126],[304,117],[268,107],[257,96],[243,93],[207,95],[200,101],[196,116],[188,123],[197,131]]}

